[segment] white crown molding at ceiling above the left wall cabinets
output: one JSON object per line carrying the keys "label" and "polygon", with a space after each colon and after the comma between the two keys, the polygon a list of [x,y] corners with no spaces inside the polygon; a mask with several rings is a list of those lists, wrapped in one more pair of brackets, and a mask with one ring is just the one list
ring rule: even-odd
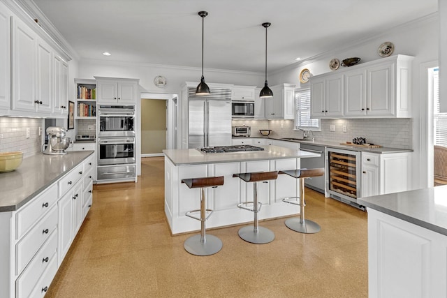
{"label": "white crown molding at ceiling above the left wall cabinets", "polygon": [[[57,50],[64,55],[64,59],[70,61],[73,59],[79,60],[78,53],[66,41],[64,36],[54,27],[52,22],[43,14],[42,10],[36,6],[32,0],[1,0],[6,3],[13,12],[20,17],[21,20],[39,33],[45,40],[57,47]],[[14,5],[15,4],[15,5]],[[37,21],[36,21],[37,20]],[[43,34],[42,34],[43,33]]]}

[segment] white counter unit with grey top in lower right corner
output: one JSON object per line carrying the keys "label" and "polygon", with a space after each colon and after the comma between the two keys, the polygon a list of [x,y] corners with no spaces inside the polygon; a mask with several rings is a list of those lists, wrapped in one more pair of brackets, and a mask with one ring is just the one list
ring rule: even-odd
{"label": "white counter unit with grey top in lower right corner", "polygon": [[369,297],[447,297],[447,186],[359,198]]}

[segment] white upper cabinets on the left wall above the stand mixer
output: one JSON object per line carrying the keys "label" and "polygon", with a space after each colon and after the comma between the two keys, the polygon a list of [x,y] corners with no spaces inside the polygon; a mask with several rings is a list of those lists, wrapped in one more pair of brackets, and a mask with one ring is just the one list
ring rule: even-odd
{"label": "white upper cabinets on the left wall above the stand mixer", "polygon": [[8,114],[66,117],[68,63],[38,33],[40,28],[35,31],[32,25],[30,27],[15,15],[11,19],[11,96]]}

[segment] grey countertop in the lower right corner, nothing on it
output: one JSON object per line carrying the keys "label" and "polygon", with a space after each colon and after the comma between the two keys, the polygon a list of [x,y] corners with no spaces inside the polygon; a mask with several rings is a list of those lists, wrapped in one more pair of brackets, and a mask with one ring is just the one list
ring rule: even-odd
{"label": "grey countertop in the lower right corner, nothing on it", "polygon": [[447,235],[447,186],[358,198],[358,204]]}

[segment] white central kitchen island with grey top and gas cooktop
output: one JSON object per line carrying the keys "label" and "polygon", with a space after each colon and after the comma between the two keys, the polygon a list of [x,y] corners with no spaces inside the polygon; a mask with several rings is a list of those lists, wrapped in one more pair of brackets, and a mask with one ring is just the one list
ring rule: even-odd
{"label": "white central kitchen island with grey top and gas cooktop", "polygon": [[[249,223],[253,214],[237,208],[241,202],[253,201],[253,186],[233,178],[240,172],[269,172],[300,168],[300,158],[320,154],[278,146],[258,146],[263,151],[204,154],[198,149],[166,149],[165,154],[165,214],[172,234],[200,230],[200,222],[185,216],[187,211],[200,206],[200,189],[189,189],[182,179],[223,176],[223,186],[205,188],[207,208],[214,214],[207,220],[207,228]],[[298,207],[281,202],[283,198],[298,196],[298,179],[279,175],[277,180],[258,184],[258,201],[263,207],[259,219],[277,218],[298,213]]]}

